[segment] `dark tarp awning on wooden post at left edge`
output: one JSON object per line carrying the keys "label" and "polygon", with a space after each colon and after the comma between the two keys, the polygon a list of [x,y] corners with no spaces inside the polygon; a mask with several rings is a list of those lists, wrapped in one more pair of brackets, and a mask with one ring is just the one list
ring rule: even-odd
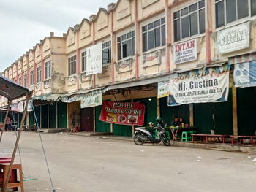
{"label": "dark tarp awning on wooden post at left edge", "polygon": [[31,91],[0,75],[1,96],[4,96],[9,100],[14,100],[26,96],[26,93],[31,93]]}

